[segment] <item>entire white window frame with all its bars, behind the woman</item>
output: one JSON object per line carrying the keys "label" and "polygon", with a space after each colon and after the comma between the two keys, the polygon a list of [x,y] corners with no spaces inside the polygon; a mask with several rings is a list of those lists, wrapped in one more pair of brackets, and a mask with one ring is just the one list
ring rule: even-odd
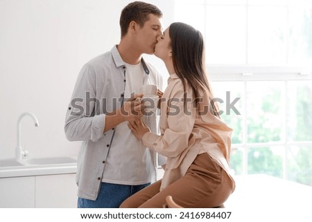
{"label": "entire white window frame with all its bars, behind the woman", "polygon": [[[199,5],[205,7],[205,15],[207,17],[207,6],[245,6],[245,28],[246,28],[246,42],[245,42],[245,63],[244,64],[206,64],[207,73],[209,75],[209,80],[211,81],[212,89],[214,89],[214,82],[243,82],[243,95],[245,95],[247,91],[247,83],[250,81],[281,81],[284,82],[284,89],[287,89],[288,81],[293,80],[312,80],[312,62],[311,64],[298,64],[298,65],[288,65],[288,51],[286,52],[286,63],[284,64],[261,64],[261,65],[253,65],[249,64],[248,57],[248,8],[259,6],[259,7],[279,7],[287,9],[287,19],[289,8],[292,6],[302,6],[300,3],[297,4],[297,1],[276,1],[277,3],[255,3],[255,1],[235,1],[236,3],[232,3],[232,1],[175,1],[175,4],[182,5]],[[310,0],[309,3],[312,3]],[[204,22],[205,29],[202,30],[202,34],[204,37],[207,35],[207,26]],[[287,25],[288,25],[287,20]],[[288,37],[288,36],[287,36]],[[205,38],[206,39],[206,38]],[[288,39],[287,39],[288,41]],[[285,90],[285,98],[288,97],[288,91]],[[243,113],[246,113],[246,103],[247,97],[241,98],[243,100]],[[312,100],[311,100],[312,102]],[[284,136],[282,140],[279,142],[259,142],[259,143],[249,143],[248,142],[248,124],[247,124],[247,116],[244,115],[242,117],[243,121],[243,142],[232,144],[232,149],[243,148],[243,174],[248,174],[248,150],[252,147],[270,147],[270,146],[282,146],[284,147],[284,156],[283,156],[283,178],[287,179],[287,151],[293,145],[309,145],[312,148],[312,140],[311,141],[295,141],[290,142],[286,140],[287,133],[287,109],[288,101],[285,99],[283,101],[282,106],[285,108],[284,112],[284,120],[283,120],[283,133]]]}

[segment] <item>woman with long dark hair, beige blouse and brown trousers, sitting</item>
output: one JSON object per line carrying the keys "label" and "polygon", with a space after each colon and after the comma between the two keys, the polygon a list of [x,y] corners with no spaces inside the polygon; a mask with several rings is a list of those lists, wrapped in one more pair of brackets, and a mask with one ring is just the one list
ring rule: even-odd
{"label": "woman with long dark hair, beige blouse and brown trousers, sitting", "polygon": [[161,136],[141,120],[128,125],[146,147],[167,157],[164,177],[121,207],[162,207],[169,195],[182,207],[218,207],[235,187],[229,169],[232,129],[220,120],[214,104],[202,35],[187,24],[173,23],[157,40],[155,55],[170,74],[161,100]]}

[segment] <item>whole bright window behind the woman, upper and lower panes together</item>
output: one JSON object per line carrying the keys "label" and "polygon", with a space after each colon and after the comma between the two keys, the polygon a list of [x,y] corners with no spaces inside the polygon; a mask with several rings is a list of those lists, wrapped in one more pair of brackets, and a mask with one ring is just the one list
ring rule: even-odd
{"label": "whole bright window behind the woman, upper and lower panes together", "polygon": [[312,185],[312,1],[175,1],[205,36],[236,174]]}

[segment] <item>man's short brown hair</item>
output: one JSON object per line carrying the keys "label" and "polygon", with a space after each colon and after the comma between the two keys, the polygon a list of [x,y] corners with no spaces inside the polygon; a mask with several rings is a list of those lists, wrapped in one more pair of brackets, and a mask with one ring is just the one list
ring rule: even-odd
{"label": "man's short brown hair", "polygon": [[131,21],[135,21],[139,26],[143,27],[145,22],[148,21],[150,14],[162,17],[162,11],[150,3],[134,1],[129,3],[128,6],[125,6],[121,11],[119,20],[121,37],[128,33],[128,27]]}

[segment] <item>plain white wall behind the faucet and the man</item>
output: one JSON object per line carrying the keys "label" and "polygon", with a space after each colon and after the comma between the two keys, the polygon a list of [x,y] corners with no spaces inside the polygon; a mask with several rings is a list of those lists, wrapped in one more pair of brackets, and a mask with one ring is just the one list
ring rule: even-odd
{"label": "plain white wall behind the faucet and the man", "polygon": [[[80,68],[119,43],[119,15],[131,1],[0,0],[0,158],[13,158],[17,118],[30,157],[73,156],[80,142],[64,136],[64,115]],[[173,0],[146,1],[173,21]],[[162,62],[148,60],[167,73]]]}

